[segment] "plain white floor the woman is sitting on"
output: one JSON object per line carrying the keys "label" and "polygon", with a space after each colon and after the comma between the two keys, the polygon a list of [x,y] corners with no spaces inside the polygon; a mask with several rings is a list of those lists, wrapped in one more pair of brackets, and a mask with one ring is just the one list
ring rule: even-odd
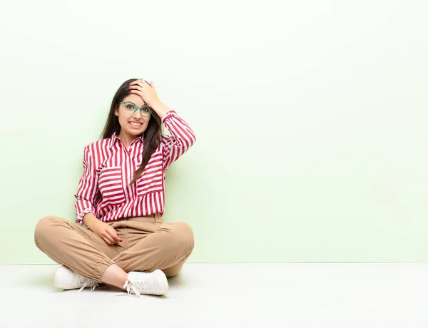
{"label": "plain white floor the woman is sitting on", "polygon": [[193,264],[165,297],[60,291],[0,266],[0,327],[428,327],[428,263]]}

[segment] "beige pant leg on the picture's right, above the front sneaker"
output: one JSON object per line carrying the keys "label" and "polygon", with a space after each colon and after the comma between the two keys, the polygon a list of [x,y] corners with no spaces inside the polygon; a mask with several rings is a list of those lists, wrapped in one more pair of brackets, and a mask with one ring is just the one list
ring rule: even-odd
{"label": "beige pant leg on the picture's right, above the front sneaker", "polygon": [[[194,247],[193,230],[185,222],[128,220],[130,247],[113,258],[126,272],[161,269],[167,277],[177,275]],[[138,230],[141,233],[136,232]],[[133,245],[132,245],[133,244]]]}

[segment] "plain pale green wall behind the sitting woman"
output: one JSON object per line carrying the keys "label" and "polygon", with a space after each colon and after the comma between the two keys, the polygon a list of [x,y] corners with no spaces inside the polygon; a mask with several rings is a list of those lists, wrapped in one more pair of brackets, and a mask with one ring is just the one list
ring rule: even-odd
{"label": "plain pale green wall behind the sitting woman", "polygon": [[426,1],[11,1],[0,14],[0,264],[51,263],[83,146],[154,81],[198,142],[168,171],[190,262],[428,260]]}

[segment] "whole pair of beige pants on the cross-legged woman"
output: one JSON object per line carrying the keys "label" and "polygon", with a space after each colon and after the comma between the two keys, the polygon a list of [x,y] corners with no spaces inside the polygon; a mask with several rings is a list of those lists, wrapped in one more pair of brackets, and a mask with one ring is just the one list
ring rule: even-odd
{"label": "whole pair of beige pants on the cross-legged woman", "polygon": [[185,222],[163,223],[160,215],[150,215],[106,223],[123,242],[108,245],[91,230],[54,216],[39,220],[34,241],[55,262],[96,282],[113,264],[125,272],[161,269],[173,277],[193,250],[193,231]]}

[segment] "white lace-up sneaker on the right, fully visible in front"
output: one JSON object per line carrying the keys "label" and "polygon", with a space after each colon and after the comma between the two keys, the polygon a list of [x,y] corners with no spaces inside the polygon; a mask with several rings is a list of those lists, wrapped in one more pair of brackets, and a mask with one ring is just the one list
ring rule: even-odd
{"label": "white lace-up sneaker on the right, fully visible in front", "polygon": [[165,295],[169,290],[168,280],[162,270],[149,272],[131,271],[128,280],[123,285],[131,295],[133,292],[138,297],[140,294]]}

